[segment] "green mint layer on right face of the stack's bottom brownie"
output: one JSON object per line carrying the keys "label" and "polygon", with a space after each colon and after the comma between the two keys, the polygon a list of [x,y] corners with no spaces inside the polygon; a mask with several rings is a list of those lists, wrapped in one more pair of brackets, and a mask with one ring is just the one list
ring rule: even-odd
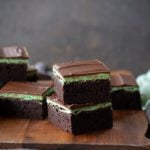
{"label": "green mint layer on right face of the stack's bottom brownie", "polygon": [[112,104],[110,102],[100,103],[100,104],[97,104],[97,105],[94,105],[94,106],[82,107],[82,108],[74,109],[74,110],[72,110],[72,114],[78,115],[81,112],[95,111],[95,110],[98,110],[98,109],[104,109],[104,108],[111,107],[111,106],[112,106]]}

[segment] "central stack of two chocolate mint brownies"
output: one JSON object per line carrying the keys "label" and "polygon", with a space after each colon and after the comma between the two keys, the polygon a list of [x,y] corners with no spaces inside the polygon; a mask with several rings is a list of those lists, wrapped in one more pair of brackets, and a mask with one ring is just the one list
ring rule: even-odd
{"label": "central stack of two chocolate mint brownies", "polygon": [[73,134],[112,127],[110,72],[99,60],[53,65],[48,119]]}

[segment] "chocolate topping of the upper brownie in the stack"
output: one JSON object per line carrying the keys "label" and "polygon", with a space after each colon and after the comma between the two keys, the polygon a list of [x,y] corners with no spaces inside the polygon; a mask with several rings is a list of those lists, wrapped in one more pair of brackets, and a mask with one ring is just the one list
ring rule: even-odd
{"label": "chocolate topping of the upper brownie in the stack", "polygon": [[55,64],[53,70],[58,71],[63,77],[109,73],[109,69],[99,60]]}

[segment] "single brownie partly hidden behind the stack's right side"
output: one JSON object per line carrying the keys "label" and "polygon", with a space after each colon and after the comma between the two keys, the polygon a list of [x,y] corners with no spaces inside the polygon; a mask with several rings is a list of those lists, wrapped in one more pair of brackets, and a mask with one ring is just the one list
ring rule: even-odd
{"label": "single brownie partly hidden behind the stack's right side", "polygon": [[111,72],[111,99],[113,109],[141,109],[139,87],[131,72]]}

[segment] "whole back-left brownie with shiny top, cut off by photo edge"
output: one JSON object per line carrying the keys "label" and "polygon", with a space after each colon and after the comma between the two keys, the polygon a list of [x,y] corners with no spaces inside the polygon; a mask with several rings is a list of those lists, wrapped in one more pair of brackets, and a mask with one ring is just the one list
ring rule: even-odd
{"label": "whole back-left brownie with shiny top, cut off by photo edge", "polygon": [[29,61],[25,47],[9,46],[0,48],[0,83],[7,81],[25,81]]}

